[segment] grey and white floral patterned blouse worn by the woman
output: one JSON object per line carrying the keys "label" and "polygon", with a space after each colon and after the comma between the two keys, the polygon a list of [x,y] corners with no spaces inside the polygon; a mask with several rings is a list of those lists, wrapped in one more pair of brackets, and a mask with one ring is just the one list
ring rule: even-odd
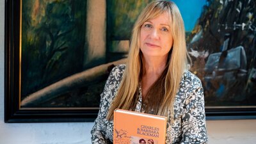
{"label": "grey and white floral patterned blouse worn by the woman", "polygon": [[[113,121],[108,121],[109,106],[122,80],[125,65],[118,65],[109,74],[100,95],[99,114],[92,128],[92,143],[113,143]],[[140,90],[141,91],[141,90]],[[141,92],[135,111],[143,112]],[[174,120],[168,124],[166,143],[207,143],[205,128],[204,92],[200,79],[189,71],[184,72],[174,104]]]}

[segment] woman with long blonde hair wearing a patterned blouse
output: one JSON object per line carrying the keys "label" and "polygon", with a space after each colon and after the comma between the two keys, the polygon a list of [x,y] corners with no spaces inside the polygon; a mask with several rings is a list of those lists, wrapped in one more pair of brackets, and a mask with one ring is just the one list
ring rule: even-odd
{"label": "woman with long blonde hair wearing a patterned blouse", "polygon": [[153,1],[134,24],[126,65],[109,74],[92,143],[113,141],[116,108],[167,116],[166,143],[207,143],[202,84],[187,67],[179,9],[170,1]]}

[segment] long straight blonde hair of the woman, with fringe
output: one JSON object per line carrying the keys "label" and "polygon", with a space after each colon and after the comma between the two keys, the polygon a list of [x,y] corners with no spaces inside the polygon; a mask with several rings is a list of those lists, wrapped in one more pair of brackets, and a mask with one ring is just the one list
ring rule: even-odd
{"label": "long straight blonde hair of the woman, with fringe", "polygon": [[[188,65],[188,52],[186,49],[184,22],[176,4],[171,1],[152,1],[141,12],[134,24],[126,63],[124,76],[116,97],[114,98],[109,111],[108,120],[113,119],[113,112],[116,108],[131,109],[138,100],[138,86],[143,71],[143,63],[140,51],[140,30],[144,22],[154,19],[167,12],[170,15],[170,26],[173,36],[173,47],[169,53],[166,64],[166,76],[164,76],[164,95],[157,115],[168,116],[173,113],[173,101],[179,90],[179,83]],[[173,115],[170,115],[173,118]]]}

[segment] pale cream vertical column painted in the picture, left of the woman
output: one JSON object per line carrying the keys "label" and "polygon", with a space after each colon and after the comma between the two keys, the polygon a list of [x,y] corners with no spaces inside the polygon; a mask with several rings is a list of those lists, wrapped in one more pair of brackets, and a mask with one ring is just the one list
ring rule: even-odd
{"label": "pale cream vertical column painted in the picture, left of the woman", "polygon": [[87,0],[84,66],[106,57],[106,1]]}

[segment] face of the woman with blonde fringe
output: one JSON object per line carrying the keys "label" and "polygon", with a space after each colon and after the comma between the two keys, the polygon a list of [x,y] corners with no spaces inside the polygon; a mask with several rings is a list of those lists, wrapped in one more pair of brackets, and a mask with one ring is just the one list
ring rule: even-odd
{"label": "face of the woman with blonde fringe", "polygon": [[141,26],[140,49],[143,56],[167,58],[173,45],[170,17],[163,13],[154,19],[149,19]]}

